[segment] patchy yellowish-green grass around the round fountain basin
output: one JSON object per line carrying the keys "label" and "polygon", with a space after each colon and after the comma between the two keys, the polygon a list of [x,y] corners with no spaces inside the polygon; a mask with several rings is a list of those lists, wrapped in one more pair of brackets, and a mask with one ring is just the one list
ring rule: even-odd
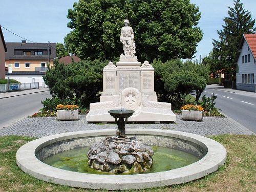
{"label": "patchy yellowish-green grass around the round fountain basin", "polygon": [[[223,144],[228,153],[226,163],[217,172],[181,185],[140,191],[256,191],[256,136],[220,135],[210,138]],[[33,139],[21,136],[0,137],[1,192],[95,191],[51,184],[23,173],[16,165],[16,151]]]}

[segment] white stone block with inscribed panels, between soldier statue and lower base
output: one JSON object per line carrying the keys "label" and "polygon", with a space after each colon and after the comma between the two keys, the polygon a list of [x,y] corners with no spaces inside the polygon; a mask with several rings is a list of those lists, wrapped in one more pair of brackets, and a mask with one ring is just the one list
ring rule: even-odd
{"label": "white stone block with inscribed panels, between soldier statue and lower base", "polygon": [[146,94],[151,101],[157,101],[154,91],[154,68],[141,66],[137,56],[123,56],[116,63],[109,63],[103,69],[103,92],[100,102],[110,101],[113,95],[119,95],[125,88],[136,88]]}

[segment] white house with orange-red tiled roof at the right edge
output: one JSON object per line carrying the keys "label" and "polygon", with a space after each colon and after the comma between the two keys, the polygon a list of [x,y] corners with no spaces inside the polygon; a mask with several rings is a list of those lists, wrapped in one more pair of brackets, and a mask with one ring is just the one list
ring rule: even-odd
{"label": "white house with orange-red tiled roof at the right edge", "polygon": [[243,34],[237,65],[237,89],[256,92],[256,34]]}

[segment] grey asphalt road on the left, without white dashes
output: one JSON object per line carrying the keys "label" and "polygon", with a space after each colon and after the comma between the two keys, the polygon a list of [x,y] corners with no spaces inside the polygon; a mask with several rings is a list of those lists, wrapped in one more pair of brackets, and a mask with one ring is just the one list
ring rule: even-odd
{"label": "grey asphalt road on the left, without white dashes", "polygon": [[0,129],[38,112],[47,97],[49,91],[0,99]]}

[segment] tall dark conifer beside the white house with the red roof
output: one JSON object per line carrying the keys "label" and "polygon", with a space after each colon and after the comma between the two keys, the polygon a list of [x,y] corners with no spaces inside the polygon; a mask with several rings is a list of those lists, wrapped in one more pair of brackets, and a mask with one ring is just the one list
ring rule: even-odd
{"label": "tall dark conifer beside the white house with the red roof", "polygon": [[[255,19],[251,18],[251,13],[244,9],[240,0],[233,2],[233,7],[228,7],[228,17],[223,19],[223,29],[218,30],[219,39],[213,39],[213,55],[218,58],[220,68],[225,69],[225,75],[230,80],[236,75],[236,55],[243,33],[250,33],[248,29],[253,29]],[[255,30],[255,28],[254,28]]]}

